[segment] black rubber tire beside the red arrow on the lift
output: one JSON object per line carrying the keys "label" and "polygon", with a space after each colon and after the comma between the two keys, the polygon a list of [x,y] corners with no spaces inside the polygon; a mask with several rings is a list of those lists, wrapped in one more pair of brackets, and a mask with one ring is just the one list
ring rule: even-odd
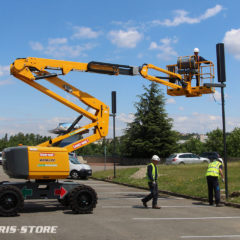
{"label": "black rubber tire beside the red arrow on the lift", "polygon": [[74,213],[91,213],[97,204],[97,193],[86,185],[80,185],[69,193],[70,207]]}

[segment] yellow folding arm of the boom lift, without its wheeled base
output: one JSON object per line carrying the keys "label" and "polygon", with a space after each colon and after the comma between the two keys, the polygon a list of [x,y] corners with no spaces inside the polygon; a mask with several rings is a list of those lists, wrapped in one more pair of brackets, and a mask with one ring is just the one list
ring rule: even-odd
{"label": "yellow folding arm of the boom lift, without its wheeled base", "polygon": [[[72,152],[80,147],[86,146],[98,139],[107,136],[108,133],[108,119],[109,119],[109,107],[100,100],[94,98],[86,92],[82,92],[71,84],[60,79],[60,75],[66,75],[70,71],[82,71],[92,72],[98,74],[109,75],[141,75],[142,77],[163,84],[168,87],[167,93],[173,96],[185,95],[187,97],[201,96],[202,94],[212,93],[214,90],[207,87],[191,87],[191,80],[193,77],[192,69],[196,66],[191,57],[178,61],[177,65],[168,66],[168,70],[156,67],[152,64],[144,64],[141,67],[133,67],[128,65],[118,65],[102,62],[89,62],[79,63],[71,61],[52,60],[44,58],[22,58],[17,59],[11,65],[11,74],[16,78],[22,80],[28,85],[36,88],[44,94],[54,98],[62,104],[77,111],[79,114],[87,117],[92,122],[84,127],[80,127],[74,131],[70,131],[64,135],[58,136],[50,141],[44,142],[39,146],[52,147],[75,134],[83,134],[89,129],[94,129],[94,133],[91,136],[83,138],[75,143],[67,145],[65,148],[68,152]],[[176,69],[183,69],[181,74],[176,73]],[[190,71],[190,70],[191,71]],[[159,73],[167,74],[167,77],[152,76],[148,72],[149,70],[155,70]],[[171,71],[170,71],[171,70]],[[50,72],[54,71],[54,72]],[[58,73],[56,73],[58,72]],[[94,109],[96,112],[92,114],[89,111],[84,110],[73,102],[61,97],[53,91],[45,88],[39,84],[39,80],[45,79],[51,84],[59,87],[60,89],[70,93],[74,97],[77,97],[80,101],[86,104],[88,107]],[[178,82],[178,84],[177,84]],[[70,129],[71,130],[71,129]]]}

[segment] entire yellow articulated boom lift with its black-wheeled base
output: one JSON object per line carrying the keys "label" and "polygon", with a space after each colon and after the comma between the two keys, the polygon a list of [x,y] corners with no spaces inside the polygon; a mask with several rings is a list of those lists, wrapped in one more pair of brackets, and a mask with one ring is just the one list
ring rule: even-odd
{"label": "entire yellow articulated boom lift with its black-wheeled base", "polygon": [[[196,97],[213,93],[214,89],[204,87],[202,82],[214,78],[214,66],[204,71],[201,63],[193,56],[181,57],[177,64],[162,69],[151,64],[132,67],[102,62],[79,63],[43,58],[21,58],[11,65],[11,74],[49,97],[75,110],[80,115],[69,129],[56,138],[37,146],[17,146],[3,151],[3,169],[11,178],[26,179],[25,182],[0,183],[0,215],[14,216],[23,208],[24,199],[58,199],[65,206],[70,206],[74,213],[90,213],[97,204],[97,194],[89,186],[72,181],[58,181],[69,176],[69,153],[84,147],[108,134],[109,107],[93,96],[83,92],[59,78],[71,71],[82,71],[109,75],[141,75],[142,77],[168,87],[171,96]],[[150,71],[166,76],[152,76]],[[192,86],[195,76],[201,79],[200,86]],[[77,104],[61,97],[40,84],[41,79],[59,87],[78,98],[93,111],[87,111]],[[76,128],[82,117],[90,123]],[[92,134],[90,134],[92,132]],[[78,140],[60,147],[61,141],[78,136]]]}

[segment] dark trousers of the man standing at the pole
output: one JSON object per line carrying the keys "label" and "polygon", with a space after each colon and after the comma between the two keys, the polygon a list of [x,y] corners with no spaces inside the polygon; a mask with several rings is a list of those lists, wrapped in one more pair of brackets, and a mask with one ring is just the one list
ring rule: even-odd
{"label": "dark trousers of the man standing at the pole", "polygon": [[218,177],[207,177],[207,183],[208,183],[208,201],[209,204],[213,204],[213,191],[215,195],[215,203],[220,203],[220,187],[218,183]]}

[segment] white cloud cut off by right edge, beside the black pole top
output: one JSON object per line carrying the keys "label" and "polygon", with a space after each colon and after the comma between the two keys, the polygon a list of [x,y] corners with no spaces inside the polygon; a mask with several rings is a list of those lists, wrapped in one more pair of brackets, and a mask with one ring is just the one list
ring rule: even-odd
{"label": "white cloud cut off by right edge, beside the black pole top", "polygon": [[223,42],[229,53],[240,60],[240,28],[226,32]]}

